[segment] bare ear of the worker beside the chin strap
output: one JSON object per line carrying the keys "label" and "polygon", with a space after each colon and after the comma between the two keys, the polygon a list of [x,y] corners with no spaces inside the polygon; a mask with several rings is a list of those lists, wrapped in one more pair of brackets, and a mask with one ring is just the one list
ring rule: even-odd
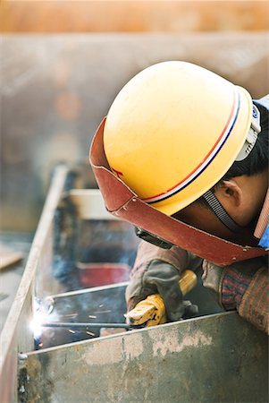
{"label": "bare ear of the worker beside the chin strap", "polygon": [[231,208],[239,208],[243,201],[242,189],[232,179],[216,184],[214,194],[223,205],[230,205]]}

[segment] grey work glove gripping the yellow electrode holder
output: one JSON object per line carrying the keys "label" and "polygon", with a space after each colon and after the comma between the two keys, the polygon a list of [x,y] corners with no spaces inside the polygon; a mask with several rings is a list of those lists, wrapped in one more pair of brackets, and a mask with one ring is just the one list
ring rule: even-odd
{"label": "grey work glove gripping the yellow electrode holder", "polygon": [[185,313],[191,311],[191,304],[184,304],[179,287],[180,272],[169,263],[152,261],[147,270],[135,273],[126,288],[128,311],[140,301],[153,294],[160,294],[164,299],[166,317],[170,321],[178,321]]}

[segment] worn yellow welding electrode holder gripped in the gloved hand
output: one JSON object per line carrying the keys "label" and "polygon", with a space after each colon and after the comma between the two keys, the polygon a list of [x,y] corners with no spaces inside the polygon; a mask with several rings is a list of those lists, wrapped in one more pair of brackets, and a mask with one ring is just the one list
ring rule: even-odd
{"label": "worn yellow welding electrode holder gripped in the gloved hand", "polygon": [[[197,276],[192,270],[184,270],[181,274],[179,287],[185,296],[197,285]],[[127,322],[133,327],[149,327],[165,323],[165,305],[162,296],[154,294],[139,302],[130,312],[126,313]]]}

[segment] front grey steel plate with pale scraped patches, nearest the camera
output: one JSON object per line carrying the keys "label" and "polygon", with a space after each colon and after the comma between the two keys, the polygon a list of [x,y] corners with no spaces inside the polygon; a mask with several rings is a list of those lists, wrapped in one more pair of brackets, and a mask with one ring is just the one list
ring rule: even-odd
{"label": "front grey steel plate with pale scraped patches, nearest the camera", "polygon": [[237,313],[31,352],[21,402],[267,402],[268,344]]}

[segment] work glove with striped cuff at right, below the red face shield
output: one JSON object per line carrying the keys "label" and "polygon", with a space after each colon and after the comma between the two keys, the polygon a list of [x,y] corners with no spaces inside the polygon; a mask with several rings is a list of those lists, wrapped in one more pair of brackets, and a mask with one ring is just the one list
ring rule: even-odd
{"label": "work glove with striped cuff at right, below the red face shield", "polygon": [[258,260],[234,263],[224,268],[205,261],[203,284],[213,291],[218,303],[226,311],[238,310],[251,279],[260,267]]}

